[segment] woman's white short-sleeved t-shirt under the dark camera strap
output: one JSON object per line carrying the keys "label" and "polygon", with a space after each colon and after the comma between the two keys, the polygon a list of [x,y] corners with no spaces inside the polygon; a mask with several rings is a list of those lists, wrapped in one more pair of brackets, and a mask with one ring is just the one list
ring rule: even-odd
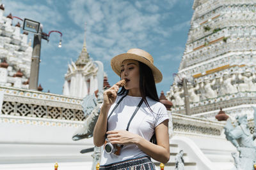
{"label": "woman's white short-sleeved t-shirt under the dark camera strap", "polygon": [[[108,115],[121,98],[122,96],[116,97],[116,101],[111,106]],[[125,96],[108,120],[108,131],[125,130],[132,114],[140,103],[141,98],[142,97]],[[154,101],[149,97],[147,97],[147,101],[154,113],[152,113],[143,102],[140,106],[140,110],[138,110],[131,121],[129,132],[139,134],[149,141],[154,134],[155,127],[169,117],[166,108],[162,103]],[[120,155],[115,155],[113,153],[108,154],[103,150],[100,165],[112,164],[122,160],[134,159],[136,157],[143,157],[146,155],[147,154],[142,152],[137,145],[124,145],[121,149]]]}

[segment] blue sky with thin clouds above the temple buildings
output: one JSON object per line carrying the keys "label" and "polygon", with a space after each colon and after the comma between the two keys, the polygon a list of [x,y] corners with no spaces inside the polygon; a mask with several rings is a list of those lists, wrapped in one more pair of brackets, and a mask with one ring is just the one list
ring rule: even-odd
{"label": "blue sky with thin clouds above the temple buildings", "polygon": [[[93,60],[104,64],[108,81],[113,85],[120,78],[112,71],[110,60],[130,48],[141,48],[154,57],[154,64],[162,71],[163,81],[157,92],[170,89],[173,73],[177,73],[184,52],[190,20],[192,0],[3,0],[4,15],[36,20],[43,31],[63,33],[62,48],[58,48],[60,34],[52,33],[50,41],[42,40],[39,83],[44,92],[62,94],[68,62],[76,61],[82,50],[84,23],[86,46]],[[14,19],[15,24],[19,20]],[[29,34],[33,41],[33,35]]]}

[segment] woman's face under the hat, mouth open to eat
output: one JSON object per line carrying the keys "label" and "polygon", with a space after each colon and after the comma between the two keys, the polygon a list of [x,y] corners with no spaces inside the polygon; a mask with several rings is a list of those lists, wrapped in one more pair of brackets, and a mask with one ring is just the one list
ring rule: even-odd
{"label": "woman's face under the hat, mouth open to eat", "polygon": [[140,67],[137,60],[124,60],[121,65],[121,79],[125,79],[126,90],[139,89]]}

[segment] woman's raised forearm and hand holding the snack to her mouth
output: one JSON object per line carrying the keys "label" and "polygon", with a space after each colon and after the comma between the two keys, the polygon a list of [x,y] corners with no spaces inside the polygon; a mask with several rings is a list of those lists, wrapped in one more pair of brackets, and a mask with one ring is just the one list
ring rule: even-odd
{"label": "woman's raised forearm and hand holding the snack to her mouth", "polygon": [[111,105],[115,103],[118,89],[119,87],[117,85],[113,85],[113,87],[103,93],[103,104],[100,109],[99,118],[93,130],[93,143],[95,146],[99,147],[104,144],[105,134],[107,131],[108,111]]}

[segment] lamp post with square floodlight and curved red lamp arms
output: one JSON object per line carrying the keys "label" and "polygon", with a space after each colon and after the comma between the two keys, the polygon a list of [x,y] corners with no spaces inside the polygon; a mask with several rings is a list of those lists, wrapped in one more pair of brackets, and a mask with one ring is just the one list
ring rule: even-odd
{"label": "lamp post with square floodlight and curved red lamp arms", "polygon": [[[19,18],[19,17],[15,17]],[[20,19],[20,18],[19,18]],[[60,34],[59,48],[61,48],[61,37],[60,31],[50,31],[48,34],[42,31],[42,24],[34,20],[24,19],[23,30],[34,33],[33,41],[33,52],[31,58],[31,68],[29,76],[29,89],[37,90],[38,87],[38,74],[39,74],[39,63],[40,63],[40,52],[41,52],[41,39],[46,39],[49,42],[49,37],[52,32],[58,32]]]}

